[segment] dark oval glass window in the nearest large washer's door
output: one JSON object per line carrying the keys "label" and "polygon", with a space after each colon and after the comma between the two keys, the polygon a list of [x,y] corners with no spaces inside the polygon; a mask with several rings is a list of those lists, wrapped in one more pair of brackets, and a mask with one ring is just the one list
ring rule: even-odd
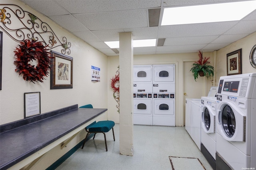
{"label": "dark oval glass window in the nearest large washer's door", "polygon": [[229,105],[224,106],[222,109],[221,122],[226,136],[232,138],[236,131],[236,118],[232,108]]}

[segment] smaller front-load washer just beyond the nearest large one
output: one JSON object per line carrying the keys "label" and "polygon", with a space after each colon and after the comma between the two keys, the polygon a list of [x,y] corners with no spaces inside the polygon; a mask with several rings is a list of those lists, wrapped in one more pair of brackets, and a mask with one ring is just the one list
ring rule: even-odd
{"label": "smaller front-load washer just beyond the nearest large one", "polygon": [[201,152],[215,169],[216,163],[216,97],[201,97]]}

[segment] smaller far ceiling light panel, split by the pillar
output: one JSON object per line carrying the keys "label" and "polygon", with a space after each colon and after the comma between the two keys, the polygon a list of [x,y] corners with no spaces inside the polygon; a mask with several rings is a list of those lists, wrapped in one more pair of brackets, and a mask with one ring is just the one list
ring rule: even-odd
{"label": "smaller far ceiling light panel, split by the pillar", "polygon": [[[110,48],[119,48],[119,41],[104,42]],[[154,47],[156,46],[156,39],[148,40],[133,40],[133,47]]]}

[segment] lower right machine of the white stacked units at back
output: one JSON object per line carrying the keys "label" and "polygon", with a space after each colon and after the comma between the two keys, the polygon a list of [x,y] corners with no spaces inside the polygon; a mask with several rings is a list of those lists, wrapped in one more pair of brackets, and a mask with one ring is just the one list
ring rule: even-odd
{"label": "lower right machine of the white stacked units at back", "polygon": [[154,93],[153,125],[175,127],[174,93]]}

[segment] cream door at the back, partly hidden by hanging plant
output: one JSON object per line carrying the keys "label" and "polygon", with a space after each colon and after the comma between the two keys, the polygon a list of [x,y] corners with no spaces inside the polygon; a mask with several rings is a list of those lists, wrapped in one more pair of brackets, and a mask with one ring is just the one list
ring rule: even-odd
{"label": "cream door at the back, partly hidden by hanging plant", "polygon": [[201,99],[204,94],[204,78],[198,77],[196,81],[194,76],[190,71],[191,65],[194,62],[184,62],[183,63],[183,92],[184,92],[184,125],[185,125],[185,115],[186,115],[186,98],[196,98]]}

